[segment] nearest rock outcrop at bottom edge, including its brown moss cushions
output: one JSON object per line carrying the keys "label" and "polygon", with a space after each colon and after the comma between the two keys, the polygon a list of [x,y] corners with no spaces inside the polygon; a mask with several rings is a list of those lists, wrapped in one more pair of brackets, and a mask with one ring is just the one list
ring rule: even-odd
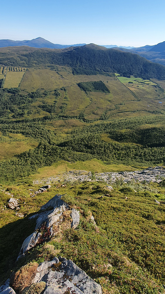
{"label": "nearest rock outcrop at bottom edge, including its brown moss cushions", "polygon": [[[52,261],[45,261],[39,265],[25,265],[11,280],[6,281],[1,287],[2,291],[0,288],[0,293],[15,294],[16,290],[19,294],[102,294],[101,286],[73,261],[61,257],[59,259],[55,257]],[[3,292],[8,288],[13,292]]]}

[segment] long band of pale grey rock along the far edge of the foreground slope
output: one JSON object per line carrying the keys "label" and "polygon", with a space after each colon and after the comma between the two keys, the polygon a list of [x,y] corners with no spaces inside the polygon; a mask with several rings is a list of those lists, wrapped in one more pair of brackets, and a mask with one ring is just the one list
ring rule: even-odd
{"label": "long band of pale grey rock along the far edge of the foreground slope", "polygon": [[[92,181],[92,173],[87,172],[85,170],[71,170],[69,172],[63,173],[63,175],[57,175],[55,177],[50,177],[47,179],[36,180],[33,183],[56,183],[56,182],[91,182]],[[103,180],[107,184],[115,182],[116,179],[122,179],[124,183],[129,182],[130,180],[134,179],[135,182],[161,182],[162,177],[165,177],[165,168],[164,167],[148,167],[145,170],[138,170],[133,172],[102,172],[102,173],[95,173],[95,180],[100,181]],[[109,186],[111,187],[111,186]],[[111,189],[112,190],[112,189]]]}

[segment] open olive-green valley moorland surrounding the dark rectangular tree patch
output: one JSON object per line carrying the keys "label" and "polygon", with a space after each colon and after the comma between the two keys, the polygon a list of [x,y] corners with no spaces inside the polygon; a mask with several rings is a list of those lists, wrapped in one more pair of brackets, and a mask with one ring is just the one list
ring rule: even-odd
{"label": "open olive-green valley moorland surrounding the dark rectangular tree patch", "polygon": [[[119,117],[130,116],[130,112],[131,116],[136,116],[137,112],[143,115],[146,112],[164,111],[164,92],[162,88],[157,87],[158,85],[155,82],[133,76],[131,78],[125,78],[115,77],[114,74],[111,75],[111,77],[100,74],[73,75],[72,69],[62,66],[57,66],[56,70],[31,68],[26,71],[23,77],[21,89],[31,92],[38,88],[53,90],[65,87],[67,91],[66,93],[60,91],[60,97],[56,100],[50,94],[47,99],[40,99],[34,102],[32,104],[34,108],[31,117],[46,114],[45,112],[41,112],[41,108],[38,109],[38,106],[43,101],[49,104],[53,104],[56,101],[56,113],[78,115],[83,111],[86,118],[89,119],[98,119],[105,111],[108,116],[112,117],[114,115],[118,115]],[[77,86],[79,82],[99,80],[105,83],[110,93],[85,93]],[[63,108],[62,111],[61,107]]]}

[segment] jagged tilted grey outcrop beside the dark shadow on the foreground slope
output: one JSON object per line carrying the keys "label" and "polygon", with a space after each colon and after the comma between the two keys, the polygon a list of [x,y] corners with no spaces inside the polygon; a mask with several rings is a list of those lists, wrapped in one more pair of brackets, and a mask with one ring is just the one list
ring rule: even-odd
{"label": "jagged tilted grey outcrop beside the dark shadow on the foreground slope", "polygon": [[[36,218],[35,231],[28,236],[21,247],[17,260],[23,256],[26,251],[33,248],[37,244],[43,243],[50,239],[53,235],[53,225],[60,222],[63,212],[70,210],[67,203],[61,199],[62,195],[55,195],[45,205],[41,207],[38,213],[29,217],[29,219]],[[71,228],[75,229],[80,221],[79,211],[72,208],[70,220],[72,218]]]}

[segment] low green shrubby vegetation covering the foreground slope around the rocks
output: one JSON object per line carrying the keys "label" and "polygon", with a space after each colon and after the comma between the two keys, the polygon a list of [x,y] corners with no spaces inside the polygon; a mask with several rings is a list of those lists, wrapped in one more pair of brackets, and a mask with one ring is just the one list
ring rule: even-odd
{"label": "low green shrubby vegetation covering the foreground slope around the rocks", "polygon": [[[165,188],[156,183],[123,184],[121,181],[116,181],[113,188],[114,191],[107,192],[102,182],[76,183],[63,188],[55,185],[47,193],[31,198],[29,189],[37,190],[38,186],[29,183],[1,187],[19,198],[19,212],[25,215],[19,219],[15,211],[4,209],[10,196],[0,192],[1,283],[27,262],[40,263],[62,255],[100,283],[103,294],[164,293],[165,210],[154,198],[165,200]],[[39,245],[15,264],[23,240],[35,227],[28,217],[57,193],[65,194],[63,200],[80,210],[78,228],[62,228],[48,242],[54,247]],[[107,193],[111,197],[101,197]],[[87,220],[89,211],[98,227]]]}

